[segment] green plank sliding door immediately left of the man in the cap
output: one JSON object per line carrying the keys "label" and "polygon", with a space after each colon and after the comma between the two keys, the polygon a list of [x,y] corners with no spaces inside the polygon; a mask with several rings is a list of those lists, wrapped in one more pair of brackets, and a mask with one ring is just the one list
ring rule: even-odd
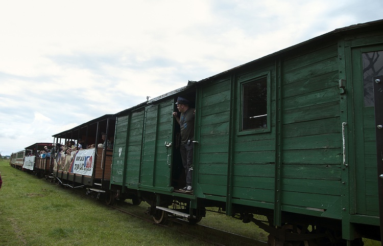
{"label": "green plank sliding door immediately left of the man in the cap", "polygon": [[[173,100],[145,107],[140,187],[171,191]],[[167,144],[166,144],[167,143]],[[168,145],[168,147],[166,146]]]}

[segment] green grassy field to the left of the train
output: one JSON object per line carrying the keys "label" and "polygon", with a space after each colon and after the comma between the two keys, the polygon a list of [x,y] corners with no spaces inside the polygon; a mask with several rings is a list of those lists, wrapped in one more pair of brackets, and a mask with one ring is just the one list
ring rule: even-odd
{"label": "green grassy field to the left of the train", "polygon": [[1,245],[211,245],[180,236],[0,161]]}

